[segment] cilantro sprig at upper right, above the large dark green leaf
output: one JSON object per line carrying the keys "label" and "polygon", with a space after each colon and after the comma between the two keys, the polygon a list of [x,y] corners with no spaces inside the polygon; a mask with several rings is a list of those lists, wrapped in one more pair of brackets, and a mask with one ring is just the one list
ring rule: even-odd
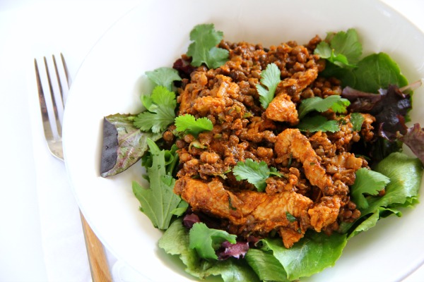
{"label": "cilantro sprig at upper right, above the large dark green leaf", "polygon": [[355,29],[346,32],[329,32],[325,41],[319,42],[314,54],[341,67],[354,67],[362,55],[362,44]]}

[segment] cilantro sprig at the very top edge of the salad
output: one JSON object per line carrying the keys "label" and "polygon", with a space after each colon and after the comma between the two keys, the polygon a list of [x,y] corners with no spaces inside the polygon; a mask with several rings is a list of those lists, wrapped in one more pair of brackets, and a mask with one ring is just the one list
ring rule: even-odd
{"label": "cilantro sprig at the very top edge of the salad", "polygon": [[228,61],[228,50],[216,47],[223,39],[223,32],[216,31],[213,24],[196,25],[190,32],[187,56],[192,57],[192,66],[205,63],[208,68],[219,68]]}

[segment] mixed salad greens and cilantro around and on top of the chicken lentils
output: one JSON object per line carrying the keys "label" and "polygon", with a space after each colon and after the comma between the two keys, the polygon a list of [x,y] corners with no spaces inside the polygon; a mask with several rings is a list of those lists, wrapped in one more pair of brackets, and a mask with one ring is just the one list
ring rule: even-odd
{"label": "mixed salad greens and cilantro around and on top of the chicken lentils", "polygon": [[[228,60],[228,51],[217,47],[223,32],[216,31],[213,25],[197,25],[190,39],[192,44],[187,56],[192,57],[192,63],[187,69],[202,64],[218,68]],[[298,128],[309,132],[336,132],[340,125],[319,113],[328,109],[344,113],[349,108],[354,111],[351,121],[355,131],[360,131],[363,123],[363,116],[355,111],[366,111],[376,117],[379,140],[375,145],[362,144],[356,148],[356,153],[363,154],[372,164],[372,170],[357,171],[351,187],[360,218],[342,223],[339,233],[330,236],[308,231],[290,249],[283,246],[280,238],[237,240],[236,235],[208,228],[190,212],[188,204],[172,192],[178,154],[175,146],[171,149],[158,146],[163,132],[172,123],[175,123],[175,135],[190,133],[196,137],[213,128],[208,118],[175,116],[177,99],[173,82],[182,79],[177,71],[158,68],[146,72],[155,87],[151,94],[141,95],[145,108],[141,113],[105,117],[101,175],[120,173],[142,159],[150,187],[134,182],[134,195],[141,204],[141,212],[151,219],[153,226],[164,231],[159,247],[170,255],[177,255],[187,273],[198,278],[221,276],[228,282],[293,281],[311,276],[334,266],[350,238],[372,228],[380,218],[391,214],[401,216],[401,208],[418,203],[424,131],[418,124],[411,128],[406,125],[413,89],[399,66],[384,53],[361,58],[362,44],[354,29],[329,32],[315,53],[327,60],[322,75],[340,79],[344,89],[341,96],[303,100],[298,109]],[[257,85],[264,109],[273,99],[279,82],[278,68],[271,63],[261,73]],[[403,144],[408,145],[416,157],[402,153]],[[252,183],[259,192],[264,190],[269,176],[284,177],[264,161],[252,159],[237,163],[232,173],[237,180]],[[289,220],[290,216],[287,214]]]}

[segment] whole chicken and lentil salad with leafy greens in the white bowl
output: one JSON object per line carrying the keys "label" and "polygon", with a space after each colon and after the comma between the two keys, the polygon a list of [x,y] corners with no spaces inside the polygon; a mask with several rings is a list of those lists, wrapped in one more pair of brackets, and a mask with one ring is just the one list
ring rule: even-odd
{"label": "whole chicken and lentil salad with leafy greens in the white bowl", "polygon": [[[158,245],[197,278],[293,281],[418,203],[424,133],[413,90],[354,29],[300,45],[231,43],[196,25],[172,66],[146,72],[144,111],[106,116],[102,176],[141,159],[132,189]],[[408,157],[402,146],[416,157]]]}

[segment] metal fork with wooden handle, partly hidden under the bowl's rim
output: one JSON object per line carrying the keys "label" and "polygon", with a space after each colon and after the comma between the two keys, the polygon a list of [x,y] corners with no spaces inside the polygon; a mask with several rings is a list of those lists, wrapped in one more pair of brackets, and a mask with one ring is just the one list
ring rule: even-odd
{"label": "metal fork with wooden handle, partly hidden under the bowl's rim", "polygon": [[[49,98],[51,99],[52,112],[49,111],[46,103],[45,89],[42,87],[42,80],[40,78],[40,70],[38,67],[37,59],[34,59],[35,64],[35,76],[37,79],[38,87],[38,97],[40,98],[40,109],[42,116],[42,125],[44,128],[45,138],[47,141],[47,147],[54,157],[57,159],[64,160],[64,154],[62,149],[62,140],[61,140],[61,117],[59,116],[60,112],[63,112],[64,109],[64,90],[67,90],[71,86],[69,80],[68,69],[66,68],[66,63],[64,56],[60,54],[60,63],[63,67],[60,73],[64,73],[66,77],[66,84],[63,85],[61,82],[61,77],[59,75],[59,68],[55,56],[52,56],[53,68],[50,70],[47,59],[44,57],[43,64],[45,72],[47,74],[48,81],[48,90]],[[57,84],[54,85],[53,82],[57,81]],[[57,87],[54,87],[57,86]],[[66,88],[64,88],[66,87]],[[60,95],[55,95],[54,90],[59,89]],[[58,97],[61,99],[59,103],[57,102]],[[60,109],[61,111],[58,111]],[[50,112],[50,113],[49,113]],[[84,238],[86,240],[86,247],[88,253],[88,261],[90,262],[90,271],[91,276],[94,282],[98,281],[112,281],[110,275],[109,266],[107,265],[107,259],[105,256],[105,250],[103,249],[102,243],[97,238],[93,230],[88,225],[83,214],[81,215],[81,223],[83,225]]]}

